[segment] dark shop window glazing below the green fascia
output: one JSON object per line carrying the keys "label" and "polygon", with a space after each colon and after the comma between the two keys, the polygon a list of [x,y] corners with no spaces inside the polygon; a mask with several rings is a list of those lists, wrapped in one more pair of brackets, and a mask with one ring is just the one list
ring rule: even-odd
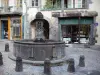
{"label": "dark shop window glazing below the green fascia", "polygon": [[[80,28],[80,30],[79,30]],[[62,25],[62,37],[65,43],[86,43],[89,41],[90,25]]]}

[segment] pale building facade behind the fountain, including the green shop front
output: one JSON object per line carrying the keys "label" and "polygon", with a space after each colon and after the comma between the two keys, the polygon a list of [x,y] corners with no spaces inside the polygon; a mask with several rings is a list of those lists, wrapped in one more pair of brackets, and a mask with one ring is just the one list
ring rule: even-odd
{"label": "pale building facade behind the fountain, including the green shop front", "polygon": [[31,22],[40,11],[45,19],[45,39],[100,44],[99,3],[99,0],[27,0],[23,3],[26,9],[23,12],[26,16],[24,38],[35,38],[35,23]]}

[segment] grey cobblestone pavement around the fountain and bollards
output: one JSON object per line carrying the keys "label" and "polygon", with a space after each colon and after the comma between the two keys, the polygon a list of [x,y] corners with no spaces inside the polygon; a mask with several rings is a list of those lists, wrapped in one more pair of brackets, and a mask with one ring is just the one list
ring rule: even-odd
{"label": "grey cobblestone pavement around the fountain and bollards", "polygon": [[[0,75],[43,75],[43,66],[33,66],[32,64],[23,64],[23,72],[15,72],[15,61],[8,58],[8,53],[4,51],[5,43],[10,45],[10,52],[13,51],[12,41],[0,41],[0,51],[3,54],[4,65],[0,66]],[[52,75],[100,75],[100,51],[89,48],[66,47],[66,59],[74,58],[75,72],[68,73],[68,64],[62,66],[52,66]],[[85,67],[79,67],[79,56],[85,56]]]}

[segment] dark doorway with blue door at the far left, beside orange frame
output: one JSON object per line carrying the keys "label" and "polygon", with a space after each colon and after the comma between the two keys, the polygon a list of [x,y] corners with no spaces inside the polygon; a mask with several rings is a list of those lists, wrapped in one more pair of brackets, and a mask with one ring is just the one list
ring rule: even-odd
{"label": "dark doorway with blue door at the far left, beside orange frame", "polygon": [[8,39],[8,20],[1,21],[2,39]]}

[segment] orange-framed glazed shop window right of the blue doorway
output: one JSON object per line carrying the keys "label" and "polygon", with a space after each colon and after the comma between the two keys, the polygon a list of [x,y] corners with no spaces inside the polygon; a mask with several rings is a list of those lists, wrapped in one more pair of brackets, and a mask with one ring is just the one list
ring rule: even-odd
{"label": "orange-framed glazed shop window right of the blue doorway", "polygon": [[21,23],[21,17],[12,17],[11,18],[11,39],[13,40],[19,40],[22,38],[22,23]]}

